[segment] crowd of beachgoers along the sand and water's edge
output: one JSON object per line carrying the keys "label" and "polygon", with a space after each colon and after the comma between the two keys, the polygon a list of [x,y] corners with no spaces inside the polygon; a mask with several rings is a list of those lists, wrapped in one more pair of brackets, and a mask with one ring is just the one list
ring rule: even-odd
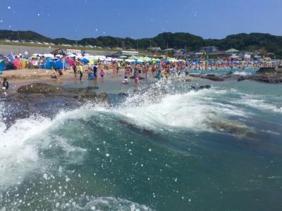
{"label": "crowd of beachgoers along the sand and water's edge", "polygon": [[[17,69],[24,68],[42,68],[47,69],[47,61],[49,58],[44,56],[22,56],[19,54],[15,56],[13,65]],[[139,84],[140,79],[148,79],[149,77],[162,79],[169,76],[179,76],[181,72],[185,75],[193,70],[204,70],[209,73],[209,70],[245,70],[245,69],[259,69],[262,67],[277,67],[280,60],[175,60],[171,62],[168,59],[159,60],[131,60],[113,58],[112,60],[95,60],[91,62],[85,59],[68,57],[57,58],[57,60],[68,60],[68,68],[73,71],[74,79],[82,81],[83,75],[87,75],[87,79],[104,79],[106,72],[111,75],[121,76],[124,74],[123,84],[128,84],[130,79],[133,79],[136,85]],[[66,66],[63,68],[51,67],[51,78],[62,79]],[[123,70],[123,72],[121,72]],[[78,76],[79,75],[79,76]],[[4,81],[5,89],[8,89],[8,82]]]}

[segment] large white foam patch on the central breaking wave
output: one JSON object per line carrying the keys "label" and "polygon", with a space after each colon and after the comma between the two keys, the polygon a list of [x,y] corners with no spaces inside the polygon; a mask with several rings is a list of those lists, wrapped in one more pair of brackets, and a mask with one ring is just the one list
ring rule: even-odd
{"label": "large white foam patch on the central breaking wave", "polygon": [[[220,122],[231,115],[245,115],[243,110],[235,110],[231,105],[207,101],[207,98],[216,98],[223,94],[226,94],[226,91],[203,89],[186,94],[168,94],[156,103],[152,102],[150,96],[147,100],[147,96],[135,95],[128,99],[129,103],[125,102],[125,105],[128,103],[130,106],[118,108],[116,112],[148,129],[164,129],[170,126],[209,131],[211,127],[207,123]],[[141,98],[142,103],[133,106],[137,98]]]}

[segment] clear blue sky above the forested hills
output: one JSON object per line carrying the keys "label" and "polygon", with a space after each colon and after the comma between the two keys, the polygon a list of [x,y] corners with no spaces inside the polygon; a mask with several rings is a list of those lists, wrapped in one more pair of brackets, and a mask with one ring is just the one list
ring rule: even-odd
{"label": "clear blue sky above the forested hills", "polygon": [[0,30],[51,38],[140,39],[188,32],[205,39],[262,32],[282,35],[282,0],[1,0]]}

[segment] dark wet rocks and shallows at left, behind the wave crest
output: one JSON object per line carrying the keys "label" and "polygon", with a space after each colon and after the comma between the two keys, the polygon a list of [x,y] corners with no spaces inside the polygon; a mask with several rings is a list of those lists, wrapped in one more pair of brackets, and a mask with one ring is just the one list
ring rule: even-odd
{"label": "dark wet rocks and shallows at left, behind the wave crest", "polygon": [[4,103],[1,119],[9,127],[30,115],[54,117],[62,109],[75,109],[86,102],[109,105],[109,96],[97,94],[95,89],[99,87],[69,90],[44,83],[27,84],[17,91],[0,89],[0,99]]}

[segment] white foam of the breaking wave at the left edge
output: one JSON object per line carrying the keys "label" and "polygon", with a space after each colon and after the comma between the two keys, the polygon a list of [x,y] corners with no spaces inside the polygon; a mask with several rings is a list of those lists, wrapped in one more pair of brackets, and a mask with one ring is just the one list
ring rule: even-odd
{"label": "white foam of the breaking wave at the left edge", "polygon": [[[20,184],[26,174],[43,168],[39,149],[48,148],[49,143],[54,141],[48,137],[48,132],[44,136],[44,132],[55,127],[56,124],[61,124],[64,119],[73,117],[73,113],[61,112],[54,120],[46,117],[17,120],[8,129],[3,122],[0,122],[0,189]],[[60,137],[56,142],[66,153],[75,150],[83,151],[81,148],[71,146]]]}

